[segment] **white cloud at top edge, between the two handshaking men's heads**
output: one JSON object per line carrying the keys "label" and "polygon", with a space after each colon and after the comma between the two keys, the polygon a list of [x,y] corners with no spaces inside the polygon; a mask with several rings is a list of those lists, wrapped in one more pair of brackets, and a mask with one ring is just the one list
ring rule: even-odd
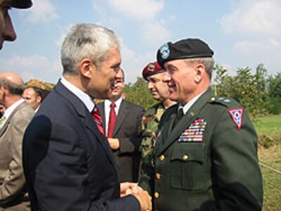
{"label": "white cloud at top edge, between the two handshaking men's heads", "polygon": [[157,0],[108,0],[116,11],[138,20],[153,19],[164,6],[163,1]]}

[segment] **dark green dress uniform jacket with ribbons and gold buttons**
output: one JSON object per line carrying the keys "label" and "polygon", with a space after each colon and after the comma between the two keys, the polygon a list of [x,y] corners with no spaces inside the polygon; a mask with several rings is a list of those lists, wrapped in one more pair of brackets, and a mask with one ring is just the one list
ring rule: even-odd
{"label": "dark green dress uniform jacket with ribbons and gold buttons", "polygon": [[154,148],[154,210],[261,210],[257,136],[239,103],[208,89],[172,130],[176,113],[164,113]]}

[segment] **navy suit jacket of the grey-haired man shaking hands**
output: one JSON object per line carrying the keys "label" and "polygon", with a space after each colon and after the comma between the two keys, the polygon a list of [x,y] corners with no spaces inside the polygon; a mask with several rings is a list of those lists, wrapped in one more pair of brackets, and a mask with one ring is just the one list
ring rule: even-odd
{"label": "navy suit jacket of the grey-haired man shaking hands", "polygon": [[139,210],[120,197],[111,149],[89,110],[58,82],[27,127],[23,167],[32,210]]}

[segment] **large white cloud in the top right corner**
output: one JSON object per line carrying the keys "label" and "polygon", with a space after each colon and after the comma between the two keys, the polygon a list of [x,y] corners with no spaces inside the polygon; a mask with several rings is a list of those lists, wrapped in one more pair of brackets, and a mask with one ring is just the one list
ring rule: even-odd
{"label": "large white cloud in the top right corner", "polygon": [[281,35],[280,0],[237,0],[220,20],[226,34]]}

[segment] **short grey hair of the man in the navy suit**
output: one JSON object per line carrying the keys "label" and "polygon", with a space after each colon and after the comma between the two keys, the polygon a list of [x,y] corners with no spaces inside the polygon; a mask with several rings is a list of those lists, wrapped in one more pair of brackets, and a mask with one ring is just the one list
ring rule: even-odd
{"label": "short grey hair of the man in the navy suit", "polygon": [[61,46],[63,74],[77,75],[78,64],[83,58],[91,59],[99,70],[111,48],[120,48],[113,31],[95,24],[74,25]]}

